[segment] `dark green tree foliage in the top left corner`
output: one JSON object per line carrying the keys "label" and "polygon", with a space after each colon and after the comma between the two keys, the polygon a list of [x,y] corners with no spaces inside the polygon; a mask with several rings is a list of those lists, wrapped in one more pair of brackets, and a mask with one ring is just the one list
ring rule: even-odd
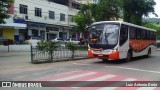
{"label": "dark green tree foliage in the top left corner", "polygon": [[14,0],[0,0],[0,24],[5,23],[4,19],[9,18],[9,3],[14,2]]}

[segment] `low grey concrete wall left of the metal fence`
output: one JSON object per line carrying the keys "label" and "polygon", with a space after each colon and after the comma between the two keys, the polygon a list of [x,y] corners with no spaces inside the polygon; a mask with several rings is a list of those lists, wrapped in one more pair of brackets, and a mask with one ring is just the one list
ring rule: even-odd
{"label": "low grey concrete wall left of the metal fence", "polygon": [[4,45],[0,45],[0,51],[9,51],[13,52],[13,51],[30,51],[31,46],[30,45],[9,45],[8,46],[4,46]]}

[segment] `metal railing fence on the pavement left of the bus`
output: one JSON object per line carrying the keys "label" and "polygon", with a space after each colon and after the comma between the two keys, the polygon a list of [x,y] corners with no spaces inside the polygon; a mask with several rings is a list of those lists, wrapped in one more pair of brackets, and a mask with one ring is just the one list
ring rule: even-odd
{"label": "metal railing fence on the pavement left of the bus", "polygon": [[[66,48],[59,48],[53,51],[52,56],[47,51],[40,51],[37,47],[31,46],[31,62],[41,63],[41,62],[54,62],[54,61],[64,61],[72,59],[72,51]],[[74,59],[88,58],[87,51],[75,51]]]}

